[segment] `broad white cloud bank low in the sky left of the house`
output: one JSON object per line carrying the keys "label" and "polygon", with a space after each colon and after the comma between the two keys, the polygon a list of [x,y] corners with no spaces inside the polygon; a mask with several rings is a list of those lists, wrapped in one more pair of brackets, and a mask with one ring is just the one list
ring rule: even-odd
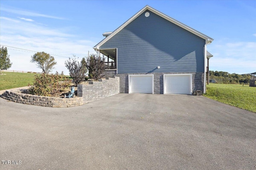
{"label": "broad white cloud bank low in the sky left of the house", "polygon": [[64,65],[68,57],[87,57],[88,51],[95,53],[92,47],[97,43],[78,38],[78,35],[68,33],[69,29],[65,27],[52,29],[34,22],[5,17],[1,17],[0,29],[1,45],[10,46],[7,47],[12,62],[10,70],[41,72],[34,63],[30,63],[30,59],[35,53],[32,51],[44,51],[54,56],[57,62],[53,73],[64,71],[64,74],[69,74]]}

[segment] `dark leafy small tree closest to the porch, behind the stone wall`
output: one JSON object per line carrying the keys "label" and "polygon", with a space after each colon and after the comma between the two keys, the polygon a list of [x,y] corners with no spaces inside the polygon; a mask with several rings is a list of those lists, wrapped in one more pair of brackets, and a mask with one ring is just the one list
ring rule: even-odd
{"label": "dark leafy small tree closest to the porch, behind the stone wall", "polygon": [[91,54],[87,58],[86,67],[89,70],[89,77],[94,81],[98,81],[105,75],[105,70],[107,68],[105,64],[105,57],[100,57],[95,54]]}

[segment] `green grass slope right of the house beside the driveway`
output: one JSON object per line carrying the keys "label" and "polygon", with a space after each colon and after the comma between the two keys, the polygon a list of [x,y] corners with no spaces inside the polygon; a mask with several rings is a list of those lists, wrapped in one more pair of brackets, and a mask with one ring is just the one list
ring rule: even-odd
{"label": "green grass slope right of the house beside the driveway", "polygon": [[204,96],[256,113],[256,87],[210,83],[206,88]]}

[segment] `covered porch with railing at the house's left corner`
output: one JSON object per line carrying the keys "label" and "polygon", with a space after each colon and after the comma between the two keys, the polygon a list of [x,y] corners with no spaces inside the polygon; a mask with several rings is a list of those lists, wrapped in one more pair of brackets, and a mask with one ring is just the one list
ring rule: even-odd
{"label": "covered porch with railing at the house's left corner", "polygon": [[107,69],[116,69],[116,49],[101,49],[99,51],[107,57],[107,59],[105,59],[105,64],[108,67]]}

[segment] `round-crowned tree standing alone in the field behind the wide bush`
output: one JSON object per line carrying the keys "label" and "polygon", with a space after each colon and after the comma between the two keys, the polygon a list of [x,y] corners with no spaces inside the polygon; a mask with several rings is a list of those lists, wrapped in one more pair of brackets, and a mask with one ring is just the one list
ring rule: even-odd
{"label": "round-crowned tree standing alone in the field behind the wide bush", "polygon": [[54,61],[54,57],[50,56],[50,54],[44,52],[37,52],[33,56],[31,56],[31,63],[36,63],[38,68],[41,68],[42,71],[48,74],[54,68],[54,65],[57,63]]}

